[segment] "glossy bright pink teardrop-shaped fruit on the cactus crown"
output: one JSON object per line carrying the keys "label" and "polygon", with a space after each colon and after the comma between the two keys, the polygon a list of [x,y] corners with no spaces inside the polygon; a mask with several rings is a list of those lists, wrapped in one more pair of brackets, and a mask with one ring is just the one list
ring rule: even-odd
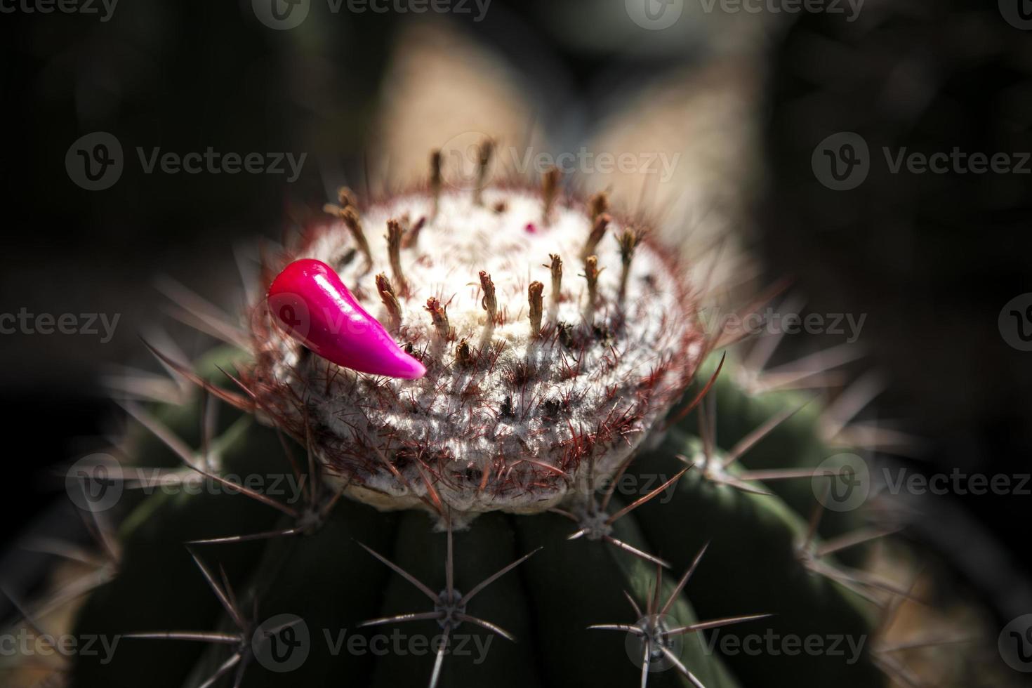
{"label": "glossy bright pink teardrop-shaped fruit on the cactus crown", "polygon": [[294,261],[272,281],[266,298],[280,326],[327,361],[406,380],[426,374],[322,261]]}

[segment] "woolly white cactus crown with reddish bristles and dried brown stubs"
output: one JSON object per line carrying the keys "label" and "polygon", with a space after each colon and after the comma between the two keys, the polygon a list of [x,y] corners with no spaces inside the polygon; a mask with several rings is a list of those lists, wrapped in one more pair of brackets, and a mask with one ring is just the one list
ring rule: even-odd
{"label": "woolly white cactus crown with reddish bristles and dried brown stubs", "polygon": [[[488,156],[484,156],[489,159]],[[278,425],[382,509],[534,513],[612,474],[702,355],[695,299],[644,221],[605,195],[429,183],[334,220],[288,259],[331,266],[426,367],[400,380],[325,360],[255,308],[247,375]],[[546,286],[547,285],[547,286]]]}

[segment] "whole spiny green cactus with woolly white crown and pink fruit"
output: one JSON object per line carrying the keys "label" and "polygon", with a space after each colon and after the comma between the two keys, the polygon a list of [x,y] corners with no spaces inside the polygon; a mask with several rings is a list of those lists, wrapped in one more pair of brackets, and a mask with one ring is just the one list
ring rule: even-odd
{"label": "whole spiny green cactus with woolly white crown and pink fruit", "polygon": [[[881,682],[816,402],[740,383],[647,218],[431,160],[342,190],[227,346],[155,349],[196,388],[127,403],[117,572],[75,621],[122,641],[74,685]],[[789,636],[841,647],[749,645]]]}

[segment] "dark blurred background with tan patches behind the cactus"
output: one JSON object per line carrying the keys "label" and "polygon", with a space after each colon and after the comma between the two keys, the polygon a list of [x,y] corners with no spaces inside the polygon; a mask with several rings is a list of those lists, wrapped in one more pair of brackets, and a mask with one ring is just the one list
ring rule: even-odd
{"label": "dark blurred background with tan patches behind the cactus", "polygon": [[[863,317],[856,333],[785,336],[775,362],[864,354],[843,375],[877,376],[864,418],[893,429],[894,461],[1018,487],[1032,472],[1027,4],[0,3],[0,314],[26,314],[0,322],[0,413],[7,480],[30,486],[0,503],[6,542],[64,497],[50,468],[118,430],[103,381],[156,369],[141,335],[207,345],[170,317],[162,275],[232,312],[256,238],[337,185],[382,193],[424,174],[431,148],[482,135],[517,167],[527,151],[633,154],[635,169],[578,163],[567,183],[650,209],[689,260],[724,251],[729,293],[788,276],[800,313]],[[208,149],[261,169],[149,167]],[[1011,167],[894,169],[955,150]],[[119,162],[90,179],[83,155]],[[70,314],[74,333],[30,332],[42,314]],[[1022,487],[926,495],[907,530],[1001,626],[1032,612]]]}

